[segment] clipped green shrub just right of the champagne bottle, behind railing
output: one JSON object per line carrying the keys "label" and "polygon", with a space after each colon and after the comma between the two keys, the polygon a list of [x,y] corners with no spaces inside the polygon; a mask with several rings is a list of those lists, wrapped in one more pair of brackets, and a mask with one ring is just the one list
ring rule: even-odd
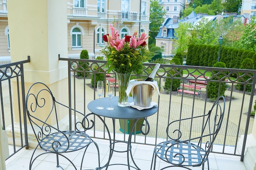
{"label": "clipped green shrub just right of the champagne bottle, behind railing", "polygon": [[[170,64],[176,64],[176,65],[180,65],[180,59],[173,57],[173,59],[171,60]],[[180,71],[180,68],[176,68],[177,71]],[[180,75],[174,75],[175,73],[177,73],[174,70],[169,71],[170,75],[167,75],[168,77],[180,77]],[[181,73],[183,75],[183,73]],[[180,87],[180,82],[181,79],[166,79],[164,82],[164,89],[166,90],[172,90],[172,91],[177,91],[177,88]],[[171,86],[172,85],[172,86]]]}

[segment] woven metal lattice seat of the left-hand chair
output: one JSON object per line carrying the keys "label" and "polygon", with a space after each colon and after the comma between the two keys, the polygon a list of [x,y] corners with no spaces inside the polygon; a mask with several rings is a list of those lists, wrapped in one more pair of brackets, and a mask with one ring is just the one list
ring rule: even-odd
{"label": "woven metal lattice seat of the left-hand chair", "polygon": [[[43,150],[50,152],[72,152],[85,148],[92,141],[91,138],[84,132],[72,130],[62,132],[63,133],[55,132],[44,137],[40,141],[40,147]],[[56,151],[54,151],[53,147]]]}

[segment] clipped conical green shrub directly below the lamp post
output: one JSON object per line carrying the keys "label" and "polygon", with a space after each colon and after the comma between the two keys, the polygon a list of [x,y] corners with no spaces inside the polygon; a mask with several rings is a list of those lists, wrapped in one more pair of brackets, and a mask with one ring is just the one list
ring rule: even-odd
{"label": "clipped conical green shrub directly below the lamp post", "polygon": [[[225,63],[223,62],[216,62],[213,67],[218,67],[218,68],[226,68]],[[213,71],[214,74],[218,73],[219,71]],[[213,80],[219,80],[222,77],[225,77],[222,73],[216,75],[217,77],[213,77]],[[219,77],[219,78],[218,78]],[[223,79],[221,79],[223,81]],[[219,82],[209,82],[208,86],[208,92],[207,92],[207,97],[211,99],[216,99],[218,96],[225,96],[225,91],[226,91],[226,83],[219,83]],[[219,94],[220,93],[220,94]]]}

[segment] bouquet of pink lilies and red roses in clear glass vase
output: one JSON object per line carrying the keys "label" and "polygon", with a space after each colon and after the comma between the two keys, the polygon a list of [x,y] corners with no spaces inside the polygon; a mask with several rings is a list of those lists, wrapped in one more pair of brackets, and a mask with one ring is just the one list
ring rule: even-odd
{"label": "bouquet of pink lilies and red roses in clear glass vase", "polygon": [[125,35],[119,37],[119,31],[115,28],[117,23],[114,21],[110,24],[111,35],[103,35],[103,40],[108,42],[108,46],[102,50],[107,57],[108,73],[115,71],[119,84],[118,106],[128,106],[126,88],[132,72],[139,74],[143,68],[142,63],[149,58],[149,51],[146,47],[148,36],[137,31],[132,36]]}

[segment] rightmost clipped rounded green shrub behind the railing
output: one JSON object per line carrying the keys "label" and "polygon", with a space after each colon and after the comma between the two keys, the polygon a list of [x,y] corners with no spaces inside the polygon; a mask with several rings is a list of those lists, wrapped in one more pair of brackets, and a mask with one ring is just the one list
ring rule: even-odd
{"label": "rightmost clipped rounded green shrub behind the railing", "polygon": [[[241,69],[250,69],[253,70],[254,69],[254,62],[252,59],[250,58],[245,58],[240,66]],[[244,73],[239,73],[239,76],[242,76]],[[249,73],[251,76],[253,76],[252,73]],[[249,75],[244,75],[242,77],[245,81],[247,81],[247,79],[249,79]],[[238,79],[238,82],[244,82],[242,79]],[[248,82],[252,83],[252,80],[249,80]],[[252,91],[252,85],[245,85],[244,84],[236,84],[236,89],[243,91],[245,88],[245,91],[251,92]]]}

